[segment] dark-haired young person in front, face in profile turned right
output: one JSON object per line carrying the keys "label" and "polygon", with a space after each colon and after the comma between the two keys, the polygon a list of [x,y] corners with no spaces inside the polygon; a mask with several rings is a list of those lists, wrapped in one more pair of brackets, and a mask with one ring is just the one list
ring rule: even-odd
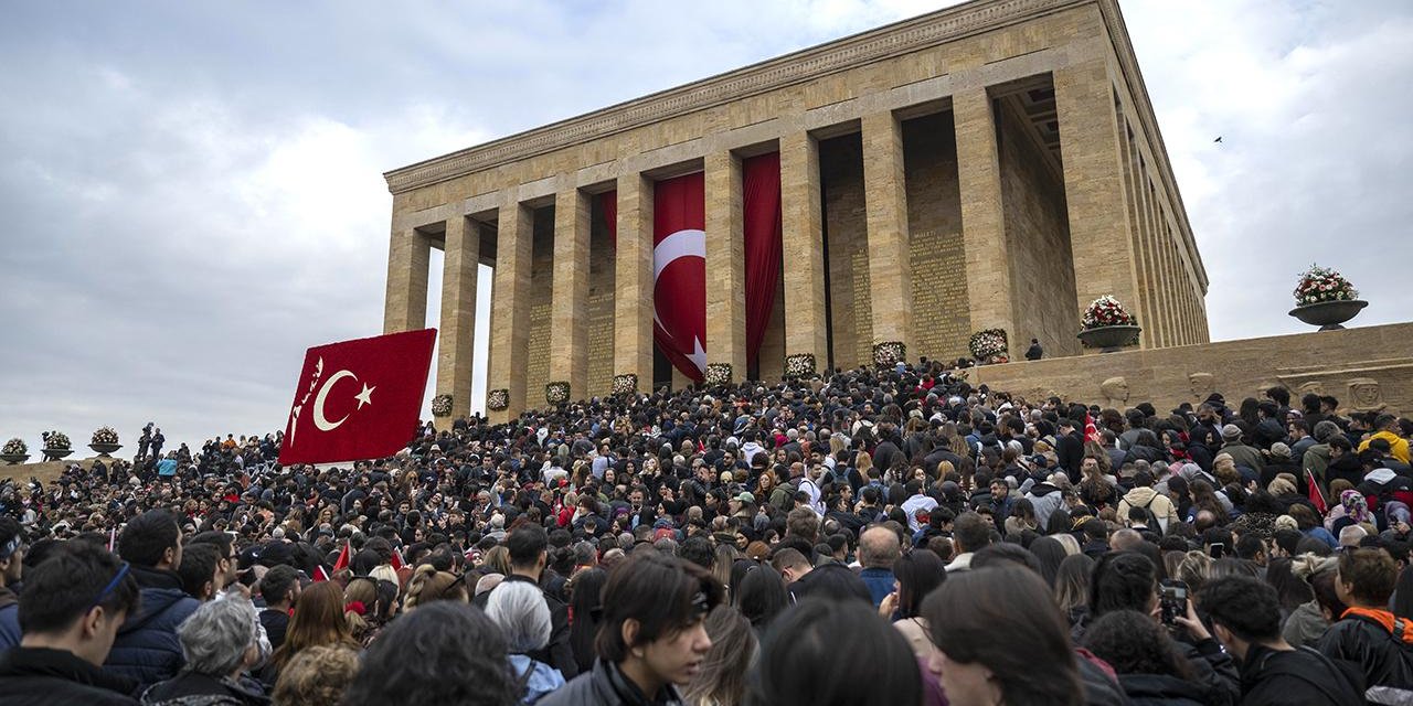
{"label": "dark-haired young person in front, face in profile turned right", "polygon": [[540,705],[685,703],[677,688],[692,679],[711,650],[705,618],[722,602],[722,593],[721,583],[701,566],[653,549],[634,551],[609,572],[603,586],[593,669]]}

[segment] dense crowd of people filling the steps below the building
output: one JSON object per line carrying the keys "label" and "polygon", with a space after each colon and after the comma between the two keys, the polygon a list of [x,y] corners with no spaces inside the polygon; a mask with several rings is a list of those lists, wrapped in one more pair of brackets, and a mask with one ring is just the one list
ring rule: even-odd
{"label": "dense crowd of people filling the steps below the building", "polygon": [[1413,703],[1413,422],[1338,409],[923,360],[336,467],[150,428],[0,486],[0,703]]}

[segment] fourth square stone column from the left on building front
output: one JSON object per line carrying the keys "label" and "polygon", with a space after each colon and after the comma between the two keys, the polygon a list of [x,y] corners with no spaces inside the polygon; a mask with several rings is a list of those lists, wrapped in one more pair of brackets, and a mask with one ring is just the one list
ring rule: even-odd
{"label": "fourth square stone column from the left on building front", "polygon": [[589,195],[572,182],[555,196],[550,380],[568,381],[571,400],[589,393]]}

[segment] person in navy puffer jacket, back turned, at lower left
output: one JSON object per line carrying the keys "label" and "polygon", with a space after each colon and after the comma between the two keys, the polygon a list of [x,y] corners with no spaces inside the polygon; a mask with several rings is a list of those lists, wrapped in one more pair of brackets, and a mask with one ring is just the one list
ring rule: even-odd
{"label": "person in navy puffer jacket, back turned, at lower left", "polygon": [[146,688],[171,679],[187,662],[177,626],[201,603],[182,593],[181,528],[171,513],[148,510],[129,521],[117,537],[117,554],[131,565],[141,609],[117,631],[103,668]]}

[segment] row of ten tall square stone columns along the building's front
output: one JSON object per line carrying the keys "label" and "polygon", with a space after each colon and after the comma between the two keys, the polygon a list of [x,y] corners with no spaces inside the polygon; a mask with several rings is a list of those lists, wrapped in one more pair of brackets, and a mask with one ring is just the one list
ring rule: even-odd
{"label": "row of ten tall square stone columns along the building's front", "polygon": [[[1118,130],[1108,72],[1102,59],[1053,72],[1077,273],[1077,315],[1102,294],[1113,294],[1130,308],[1142,306],[1123,206],[1122,161],[1128,154],[1121,140],[1126,141],[1126,136]],[[1005,328],[1017,339],[993,100],[985,86],[972,86],[958,89],[951,103],[971,328]],[[901,342],[913,357],[901,126],[893,112],[882,112],[863,116],[861,131],[873,342]],[[798,130],[780,136],[779,150],[786,353],[812,354],[822,369],[829,361],[829,350],[820,148],[808,131]],[[709,152],[704,157],[704,169],[706,232],[711,234],[706,240],[708,363],[731,364],[732,376],[740,380],[746,374],[740,157],[729,150]],[[622,174],[615,188],[613,373],[637,376],[642,390],[653,381],[653,182],[643,174]],[[575,398],[606,393],[588,390],[589,213],[591,196],[572,176],[561,178],[555,195],[550,378],[567,380]],[[490,412],[492,419],[504,421],[541,402],[540,391],[527,390],[526,380],[533,216],[519,201],[519,189],[504,192],[497,222],[487,390],[506,395],[506,407]],[[462,415],[471,408],[479,234],[462,215],[451,217],[445,229],[437,393],[452,393],[454,414]],[[393,233],[384,330],[418,328],[425,321],[428,247],[430,239],[417,230]],[[1012,340],[1013,347],[1022,345],[1022,340]]]}

